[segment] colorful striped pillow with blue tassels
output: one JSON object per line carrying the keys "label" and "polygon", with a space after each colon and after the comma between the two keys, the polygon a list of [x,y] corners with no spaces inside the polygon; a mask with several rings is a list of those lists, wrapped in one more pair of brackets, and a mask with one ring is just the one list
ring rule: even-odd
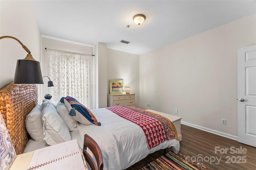
{"label": "colorful striped pillow with blue tassels", "polygon": [[63,99],[60,99],[60,102],[62,101],[64,101],[69,111],[68,115],[72,116],[76,121],[83,125],[91,125],[92,123],[97,126],[101,125],[92,112],[73,97],[64,97]]}

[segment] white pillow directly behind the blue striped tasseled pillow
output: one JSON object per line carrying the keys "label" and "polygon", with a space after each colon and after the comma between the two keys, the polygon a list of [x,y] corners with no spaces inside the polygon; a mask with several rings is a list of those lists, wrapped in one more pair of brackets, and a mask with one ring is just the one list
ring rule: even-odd
{"label": "white pillow directly behind the blue striped tasseled pillow", "polygon": [[77,126],[77,121],[73,119],[70,115],[68,115],[69,111],[64,103],[57,103],[56,110],[59,113],[60,117],[66,122],[68,125],[69,131],[74,130]]}

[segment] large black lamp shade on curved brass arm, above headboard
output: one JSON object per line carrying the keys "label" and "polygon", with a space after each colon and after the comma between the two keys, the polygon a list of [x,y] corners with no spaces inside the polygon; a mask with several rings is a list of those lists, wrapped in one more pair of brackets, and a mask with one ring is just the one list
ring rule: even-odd
{"label": "large black lamp shade on curved brass arm, above headboard", "polygon": [[34,60],[18,59],[13,83],[44,84],[40,63]]}

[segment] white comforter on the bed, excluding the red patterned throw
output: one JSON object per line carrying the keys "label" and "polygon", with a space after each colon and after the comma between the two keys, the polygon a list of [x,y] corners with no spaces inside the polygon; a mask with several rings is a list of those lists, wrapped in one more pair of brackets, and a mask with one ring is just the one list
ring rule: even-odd
{"label": "white comforter on the bed, excluding the red patterned throw", "polygon": [[[77,124],[81,138],[90,135],[100,146],[104,170],[121,170],[130,167],[148,154],[171,147],[175,153],[180,149],[176,139],[166,140],[151,150],[143,130],[136,124],[119,117],[108,109],[90,110],[101,126]],[[132,134],[132,135],[131,135]],[[79,140],[80,147],[83,140]]]}

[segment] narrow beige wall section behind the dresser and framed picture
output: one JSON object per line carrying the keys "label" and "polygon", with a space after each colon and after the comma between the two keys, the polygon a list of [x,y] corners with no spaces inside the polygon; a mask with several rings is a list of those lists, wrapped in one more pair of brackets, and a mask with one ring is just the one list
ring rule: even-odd
{"label": "narrow beige wall section behind the dresser and framed picture", "polygon": [[[139,107],[139,55],[108,49],[108,80],[124,79],[124,85],[132,86],[135,95],[135,106]],[[107,80],[107,83],[108,83]],[[109,83],[108,83],[109,94]]]}

